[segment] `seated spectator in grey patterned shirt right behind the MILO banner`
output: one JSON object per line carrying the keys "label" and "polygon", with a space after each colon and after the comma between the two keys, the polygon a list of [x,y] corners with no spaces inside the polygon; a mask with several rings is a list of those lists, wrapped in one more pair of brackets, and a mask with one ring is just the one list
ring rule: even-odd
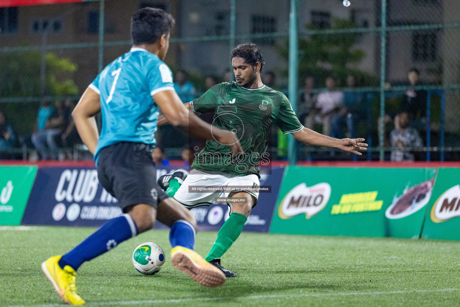
{"label": "seated spectator in grey patterned shirt right behind the MILO banner", "polygon": [[409,115],[403,111],[395,117],[395,129],[390,133],[391,147],[398,149],[391,151],[391,161],[414,161],[414,154],[406,147],[421,147],[422,139],[415,128],[408,127]]}

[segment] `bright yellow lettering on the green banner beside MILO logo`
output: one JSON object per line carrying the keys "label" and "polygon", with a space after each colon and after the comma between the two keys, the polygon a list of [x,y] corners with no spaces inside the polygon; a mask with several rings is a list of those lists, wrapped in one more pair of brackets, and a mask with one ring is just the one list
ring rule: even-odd
{"label": "bright yellow lettering on the green banner beside MILO logo", "polygon": [[376,200],[378,191],[344,194],[339,204],[333,205],[331,214],[378,211],[382,209],[383,200]]}

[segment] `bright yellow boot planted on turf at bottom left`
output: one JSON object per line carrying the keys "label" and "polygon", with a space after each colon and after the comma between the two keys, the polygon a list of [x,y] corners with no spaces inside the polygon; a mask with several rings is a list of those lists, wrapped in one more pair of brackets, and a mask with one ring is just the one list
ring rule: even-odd
{"label": "bright yellow boot planted on turf at bottom left", "polygon": [[70,305],[83,305],[85,301],[76,293],[75,278],[77,277],[77,272],[70,266],[64,266],[64,269],[61,269],[57,264],[61,257],[61,255],[58,255],[49,258],[41,264],[41,270],[51,281],[63,301]]}

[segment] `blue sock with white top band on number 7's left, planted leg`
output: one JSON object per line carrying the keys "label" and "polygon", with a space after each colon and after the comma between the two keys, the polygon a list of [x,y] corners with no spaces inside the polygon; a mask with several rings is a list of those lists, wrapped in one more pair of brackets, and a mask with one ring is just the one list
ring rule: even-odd
{"label": "blue sock with white top band on number 7's left, planted leg", "polygon": [[115,219],[108,220],[85,241],[63,255],[59,266],[71,266],[75,271],[85,261],[113,249],[121,242],[138,234],[138,229],[131,215],[123,214]]}

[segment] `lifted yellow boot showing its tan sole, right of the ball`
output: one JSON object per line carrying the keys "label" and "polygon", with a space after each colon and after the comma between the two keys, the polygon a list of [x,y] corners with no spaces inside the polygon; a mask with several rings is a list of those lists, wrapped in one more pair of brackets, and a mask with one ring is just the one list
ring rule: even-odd
{"label": "lifted yellow boot showing its tan sole, right of the ball", "polygon": [[219,287],[225,282],[225,275],[191,249],[176,246],[171,250],[171,262],[178,270],[188,274],[198,284]]}

